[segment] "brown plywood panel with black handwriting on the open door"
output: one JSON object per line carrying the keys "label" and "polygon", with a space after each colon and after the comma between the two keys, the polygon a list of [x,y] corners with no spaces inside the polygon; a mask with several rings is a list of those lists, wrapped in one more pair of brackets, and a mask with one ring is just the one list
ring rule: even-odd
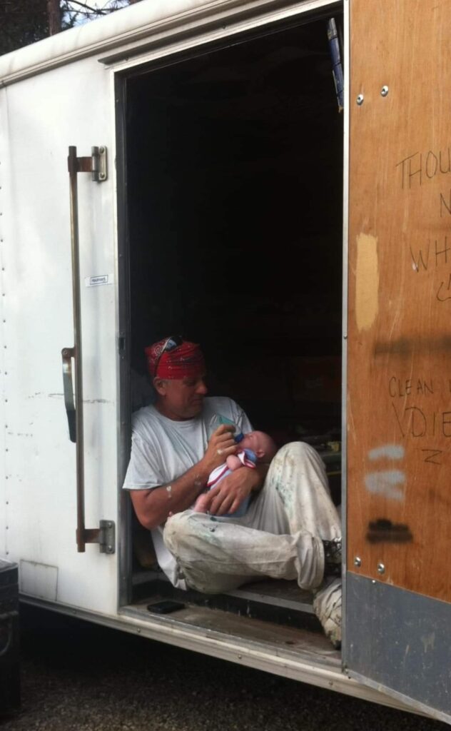
{"label": "brown plywood panel with black handwriting on the open door", "polygon": [[450,601],[451,2],[350,10],[348,562]]}

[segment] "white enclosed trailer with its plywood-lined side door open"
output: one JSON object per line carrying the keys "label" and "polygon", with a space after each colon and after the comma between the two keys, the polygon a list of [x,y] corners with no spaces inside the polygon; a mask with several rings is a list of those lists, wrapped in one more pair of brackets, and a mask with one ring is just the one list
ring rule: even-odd
{"label": "white enclosed trailer with its plywood-lined side door open", "polygon": [[[24,601],[451,721],[447,7],[142,0],[0,58],[0,554]],[[341,653],[289,583],[148,611],[176,592],[121,490],[130,385],[174,328],[281,441],[341,442]]]}

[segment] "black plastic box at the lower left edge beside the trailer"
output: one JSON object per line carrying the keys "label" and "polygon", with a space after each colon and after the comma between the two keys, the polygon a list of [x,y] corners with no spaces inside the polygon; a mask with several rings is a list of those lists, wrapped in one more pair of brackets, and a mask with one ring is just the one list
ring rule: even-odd
{"label": "black plastic box at the lower left edge beside the trailer", "polygon": [[0,714],[19,708],[18,566],[0,559]]}

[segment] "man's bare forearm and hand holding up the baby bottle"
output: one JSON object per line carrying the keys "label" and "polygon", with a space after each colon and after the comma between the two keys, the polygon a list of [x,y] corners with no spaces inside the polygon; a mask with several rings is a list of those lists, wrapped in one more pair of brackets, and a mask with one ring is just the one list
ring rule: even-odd
{"label": "man's bare forearm and hand holding up the baby bottle", "polygon": [[[208,476],[237,449],[232,437],[233,427],[221,425],[212,434],[200,462],[170,483],[149,490],[131,490],[130,496],[137,519],[147,529],[156,528],[170,513],[191,507],[207,484]],[[220,453],[218,453],[218,451]]]}

